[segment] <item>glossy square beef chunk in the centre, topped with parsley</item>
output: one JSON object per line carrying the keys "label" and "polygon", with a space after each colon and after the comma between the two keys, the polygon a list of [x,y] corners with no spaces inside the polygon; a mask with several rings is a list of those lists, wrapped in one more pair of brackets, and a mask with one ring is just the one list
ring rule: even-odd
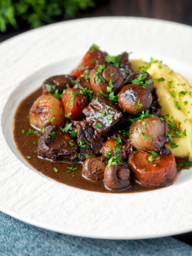
{"label": "glossy square beef chunk in the centre, topped with parsley", "polygon": [[123,118],[120,107],[101,94],[93,97],[83,113],[93,128],[105,136],[111,136],[121,125]]}

